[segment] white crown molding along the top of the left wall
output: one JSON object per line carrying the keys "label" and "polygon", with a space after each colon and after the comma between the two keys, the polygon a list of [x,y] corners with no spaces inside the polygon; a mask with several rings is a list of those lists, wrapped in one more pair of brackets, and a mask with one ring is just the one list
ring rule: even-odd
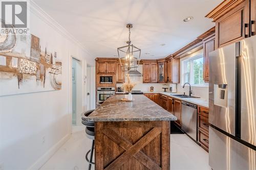
{"label": "white crown molding along the top of the left wall", "polygon": [[42,10],[33,0],[29,1],[29,12],[36,15],[39,19],[47,23],[48,26],[58,31],[63,37],[75,43],[82,51],[87,53],[89,56],[93,56],[87,49],[82,45],[70,32],[63,28],[55,19],[53,19],[48,13]]}

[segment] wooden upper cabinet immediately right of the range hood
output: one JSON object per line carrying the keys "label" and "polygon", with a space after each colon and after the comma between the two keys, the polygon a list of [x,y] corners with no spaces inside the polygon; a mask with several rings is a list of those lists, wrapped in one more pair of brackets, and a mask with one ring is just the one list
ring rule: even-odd
{"label": "wooden upper cabinet immediately right of the range hood", "polygon": [[143,83],[157,83],[157,62],[143,62]]}

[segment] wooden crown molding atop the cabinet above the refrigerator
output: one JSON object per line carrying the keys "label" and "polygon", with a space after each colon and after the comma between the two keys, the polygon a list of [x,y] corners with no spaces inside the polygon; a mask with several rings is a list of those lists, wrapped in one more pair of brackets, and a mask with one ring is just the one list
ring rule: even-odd
{"label": "wooden crown molding atop the cabinet above the refrigerator", "polygon": [[225,0],[220,5],[211,10],[205,17],[213,19],[215,22],[221,16],[225,15],[227,12],[237,7],[245,0]]}

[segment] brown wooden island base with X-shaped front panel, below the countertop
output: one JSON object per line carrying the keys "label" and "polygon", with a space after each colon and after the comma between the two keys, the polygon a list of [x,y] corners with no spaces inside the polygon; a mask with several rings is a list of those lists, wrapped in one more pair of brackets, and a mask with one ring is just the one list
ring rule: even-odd
{"label": "brown wooden island base with X-shaped front panel, below the countertop", "polygon": [[170,122],[95,122],[95,169],[170,169]]}

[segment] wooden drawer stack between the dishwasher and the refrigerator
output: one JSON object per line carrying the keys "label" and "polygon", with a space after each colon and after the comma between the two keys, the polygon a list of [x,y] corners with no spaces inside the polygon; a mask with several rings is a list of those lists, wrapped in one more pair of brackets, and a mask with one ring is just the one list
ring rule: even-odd
{"label": "wooden drawer stack between the dishwasher and the refrigerator", "polygon": [[208,122],[209,110],[206,107],[198,106],[197,114],[197,130],[198,130],[198,142],[201,147],[208,152],[209,148],[209,122]]}

